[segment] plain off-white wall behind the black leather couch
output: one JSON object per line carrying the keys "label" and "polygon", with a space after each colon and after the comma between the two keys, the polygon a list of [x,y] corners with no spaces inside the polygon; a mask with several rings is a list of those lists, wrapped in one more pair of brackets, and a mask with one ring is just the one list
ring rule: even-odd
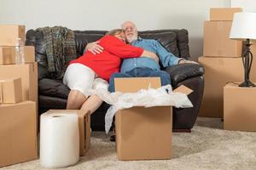
{"label": "plain off-white wall behind the black leather couch", "polygon": [[203,21],[211,7],[230,7],[230,0],[0,0],[0,24],[109,30],[133,20],[141,31],[185,28],[196,59],[202,54]]}

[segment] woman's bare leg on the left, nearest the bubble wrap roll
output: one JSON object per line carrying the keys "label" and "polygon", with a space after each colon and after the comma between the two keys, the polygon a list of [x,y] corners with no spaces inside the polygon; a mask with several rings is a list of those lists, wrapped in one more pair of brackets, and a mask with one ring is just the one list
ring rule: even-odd
{"label": "woman's bare leg on the left, nearest the bubble wrap roll", "polygon": [[67,97],[67,110],[79,110],[86,97],[79,90],[70,90]]}

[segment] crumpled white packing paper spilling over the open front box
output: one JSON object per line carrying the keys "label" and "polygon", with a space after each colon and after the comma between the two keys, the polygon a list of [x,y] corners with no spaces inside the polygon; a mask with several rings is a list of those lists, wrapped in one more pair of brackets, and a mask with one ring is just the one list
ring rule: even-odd
{"label": "crumpled white packing paper spilling over the open front box", "polygon": [[[168,93],[167,93],[168,91]],[[182,93],[173,93],[172,86],[166,85],[160,88],[141,89],[137,93],[109,93],[105,89],[91,90],[90,95],[96,94],[103,101],[112,105],[108,108],[105,116],[105,131],[108,133],[115,113],[121,109],[133,106],[164,106],[172,105],[177,108],[193,107],[188,96]]]}

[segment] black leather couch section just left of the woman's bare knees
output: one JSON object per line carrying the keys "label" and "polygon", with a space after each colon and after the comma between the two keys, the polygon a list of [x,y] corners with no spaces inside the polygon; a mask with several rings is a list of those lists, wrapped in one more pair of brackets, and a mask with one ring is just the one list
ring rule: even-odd
{"label": "black leather couch section just left of the woman's bare knees", "polygon": [[46,96],[67,99],[70,89],[61,81],[43,78],[38,82],[38,92]]}

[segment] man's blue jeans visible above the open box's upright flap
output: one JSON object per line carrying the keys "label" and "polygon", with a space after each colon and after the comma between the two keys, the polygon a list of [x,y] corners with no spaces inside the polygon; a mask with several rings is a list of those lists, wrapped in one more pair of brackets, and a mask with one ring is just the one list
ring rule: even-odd
{"label": "man's blue jeans visible above the open box's upright flap", "polygon": [[171,84],[171,77],[166,71],[155,71],[150,68],[136,68],[126,73],[114,73],[109,79],[109,92],[114,92],[113,79],[116,77],[160,77],[161,85]]}

